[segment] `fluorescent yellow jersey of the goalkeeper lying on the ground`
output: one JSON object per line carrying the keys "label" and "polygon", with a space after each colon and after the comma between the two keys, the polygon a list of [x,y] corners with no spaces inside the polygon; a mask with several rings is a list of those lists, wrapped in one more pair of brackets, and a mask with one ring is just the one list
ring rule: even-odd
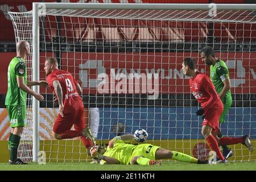
{"label": "fluorescent yellow jersey of the goalkeeper lying on the ground", "polygon": [[[137,146],[133,144],[124,143],[123,140],[117,140],[115,141],[113,148],[109,148],[108,146],[103,155],[119,160],[120,164],[130,164],[131,155],[136,147]],[[101,164],[104,163],[106,163],[105,160],[101,160]]]}

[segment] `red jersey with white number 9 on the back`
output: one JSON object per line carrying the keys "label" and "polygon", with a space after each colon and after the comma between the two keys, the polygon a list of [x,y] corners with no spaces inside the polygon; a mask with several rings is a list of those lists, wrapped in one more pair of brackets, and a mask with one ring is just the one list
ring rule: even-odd
{"label": "red jersey with white number 9 on the back", "polygon": [[47,76],[46,80],[49,84],[49,88],[55,94],[55,97],[56,93],[53,87],[53,81],[58,80],[60,82],[63,93],[63,113],[69,113],[72,112],[72,110],[77,110],[84,107],[82,104],[82,99],[79,96],[79,93],[77,93],[77,81],[75,78],[73,78],[71,73],[60,69],[55,69]]}

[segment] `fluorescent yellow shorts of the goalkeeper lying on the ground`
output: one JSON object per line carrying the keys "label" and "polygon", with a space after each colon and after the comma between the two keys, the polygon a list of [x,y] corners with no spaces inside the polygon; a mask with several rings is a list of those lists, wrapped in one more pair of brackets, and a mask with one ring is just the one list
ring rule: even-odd
{"label": "fluorescent yellow shorts of the goalkeeper lying on the ground", "polygon": [[135,156],[142,155],[145,158],[155,160],[155,152],[160,148],[159,146],[154,146],[152,144],[139,144],[134,148],[133,154],[131,154],[131,159]]}

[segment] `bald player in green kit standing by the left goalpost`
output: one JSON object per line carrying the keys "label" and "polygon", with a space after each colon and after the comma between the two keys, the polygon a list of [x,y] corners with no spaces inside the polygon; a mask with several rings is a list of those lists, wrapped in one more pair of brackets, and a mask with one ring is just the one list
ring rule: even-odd
{"label": "bald player in green kit standing by the left goalpost", "polygon": [[17,45],[17,55],[8,67],[7,79],[8,90],[5,98],[5,105],[10,120],[11,133],[9,137],[10,160],[9,164],[27,164],[17,158],[20,136],[23,127],[26,126],[26,98],[27,93],[31,94],[38,101],[44,97],[35,93],[28,86],[47,86],[46,81],[27,81],[26,57],[30,55],[30,44],[26,40],[20,40]]}

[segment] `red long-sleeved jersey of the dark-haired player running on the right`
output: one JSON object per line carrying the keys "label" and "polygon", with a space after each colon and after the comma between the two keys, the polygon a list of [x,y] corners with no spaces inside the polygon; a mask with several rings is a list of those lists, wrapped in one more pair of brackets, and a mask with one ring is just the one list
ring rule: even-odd
{"label": "red long-sleeved jersey of the dark-haired player running on the right", "polygon": [[205,73],[196,72],[196,76],[189,79],[189,86],[191,93],[203,107],[205,113],[210,107],[222,105],[212,81]]}

